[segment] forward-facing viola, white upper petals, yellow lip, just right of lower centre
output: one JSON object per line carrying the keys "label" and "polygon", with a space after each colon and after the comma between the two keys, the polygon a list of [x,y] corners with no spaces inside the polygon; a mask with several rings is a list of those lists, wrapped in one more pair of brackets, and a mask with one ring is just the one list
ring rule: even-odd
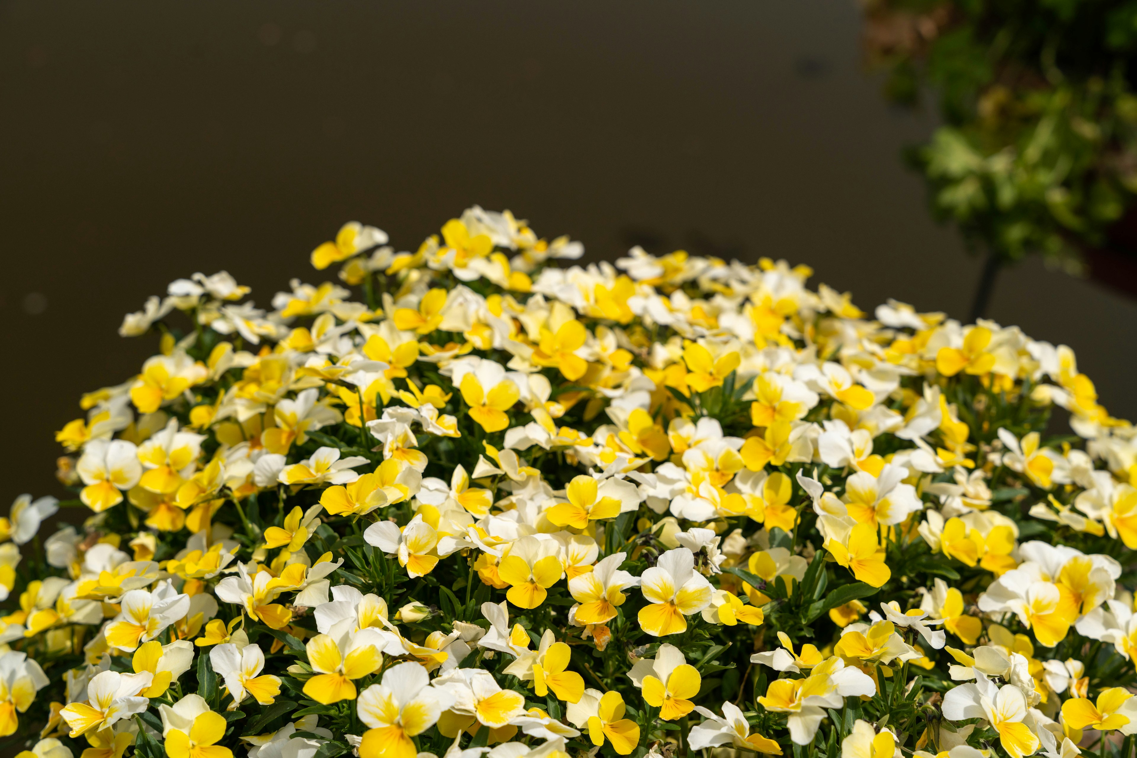
{"label": "forward-facing viola, white upper petals, yellow lip, just right of lower centre", "polygon": [[687,548],[669,550],[640,576],[640,591],[650,603],[639,611],[639,623],[653,636],[687,631],[686,616],[711,605],[713,589],[695,572],[695,555]]}

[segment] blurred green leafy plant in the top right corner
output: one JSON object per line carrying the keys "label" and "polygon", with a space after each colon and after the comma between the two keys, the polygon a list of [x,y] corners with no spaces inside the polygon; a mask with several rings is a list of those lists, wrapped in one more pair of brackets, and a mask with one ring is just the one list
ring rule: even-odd
{"label": "blurred green leafy plant in the top right corner", "polygon": [[888,97],[939,98],[911,150],[941,218],[1071,270],[1137,199],[1137,0],[868,0]]}

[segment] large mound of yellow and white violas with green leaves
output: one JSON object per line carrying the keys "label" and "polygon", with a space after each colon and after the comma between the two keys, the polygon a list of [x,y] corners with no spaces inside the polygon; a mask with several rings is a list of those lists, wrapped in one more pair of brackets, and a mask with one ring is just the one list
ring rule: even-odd
{"label": "large mound of yellow and white violas with green leaves", "polygon": [[1137,432],[1068,348],[478,207],[387,241],[125,318],[74,499],[0,519],[23,758],[1130,753]]}

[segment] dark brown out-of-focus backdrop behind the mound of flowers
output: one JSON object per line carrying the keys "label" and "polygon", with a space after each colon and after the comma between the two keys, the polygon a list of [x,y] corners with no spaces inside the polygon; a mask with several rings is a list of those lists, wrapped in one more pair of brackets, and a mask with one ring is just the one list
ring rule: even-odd
{"label": "dark brown out-of-focus backdrop behind the mound of flowers", "polygon": [[[587,260],[787,258],[965,318],[981,261],[901,160],[933,111],[860,33],[853,0],[0,2],[0,509],[60,494],[52,433],[156,351],[123,314],[222,268],[267,306],[349,219],[414,249],[508,208]],[[988,314],[1137,416],[1137,303],[1036,257]]]}

